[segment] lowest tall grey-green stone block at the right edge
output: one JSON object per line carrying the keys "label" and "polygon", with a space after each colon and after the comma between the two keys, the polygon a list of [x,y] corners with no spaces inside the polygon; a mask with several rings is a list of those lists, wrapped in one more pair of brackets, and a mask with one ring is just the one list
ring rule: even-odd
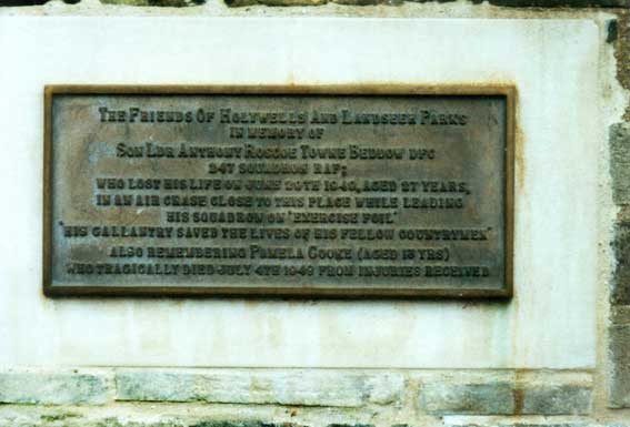
{"label": "lowest tall grey-green stone block at the right edge", "polygon": [[630,325],[609,328],[609,407],[630,408]]}

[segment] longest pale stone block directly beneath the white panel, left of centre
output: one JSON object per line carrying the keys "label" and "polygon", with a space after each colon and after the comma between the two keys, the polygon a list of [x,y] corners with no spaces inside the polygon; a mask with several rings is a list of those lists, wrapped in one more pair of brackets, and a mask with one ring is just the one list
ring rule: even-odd
{"label": "longest pale stone block directly beneath the white panel, left of centre", "polygon": [[326,370],[164,372],[121,369],[118,400],[209,401],[358,407],[391,404],[404,388],[398,374],[342,374]]}

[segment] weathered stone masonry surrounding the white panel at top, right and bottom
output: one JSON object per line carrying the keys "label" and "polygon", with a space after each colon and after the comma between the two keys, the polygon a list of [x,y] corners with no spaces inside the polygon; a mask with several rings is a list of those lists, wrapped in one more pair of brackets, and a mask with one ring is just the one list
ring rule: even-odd
{"label": "weathered stone masonry surrounding the white panel at top, right and bottom", "polygon": [[[601,170],[610,171],[602,191],[611,199],[602,221],[612,237],[604,242],[609,247],[599,248],[609,256],[601,266],[609,279],[598,298],[596,368],[1,366],[0,426],[630,426],[629,0],[0,0],[0,16],[103,21],[111,16],[591,19],[606,35],[600,71],[610,104],[603,110],[618,122],[601,153]],[[0,28],[0,47],[19,43],[1,34]],[[0,352],[9,352],[1,339],[0,334]]]}

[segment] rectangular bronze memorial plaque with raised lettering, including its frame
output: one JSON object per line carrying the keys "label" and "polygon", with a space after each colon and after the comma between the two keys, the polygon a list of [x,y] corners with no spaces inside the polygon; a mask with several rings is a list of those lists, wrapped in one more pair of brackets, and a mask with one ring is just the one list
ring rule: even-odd
{"label": "rectangular bronze memorial plaque with raised lettering, including its frame", "polygon": [[49,87],[44,293],[509,297],[513,102]]}

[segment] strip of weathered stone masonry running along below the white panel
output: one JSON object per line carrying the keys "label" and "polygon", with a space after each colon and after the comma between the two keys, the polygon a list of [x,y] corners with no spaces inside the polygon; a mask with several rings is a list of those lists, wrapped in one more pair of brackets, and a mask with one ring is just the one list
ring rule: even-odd
{"label": "strip of weathered stone masonry running along below the white panel", "polygon": [[0,425],[19,426],[582,425],[593,421],[593,376],[511,369],[12,368],[0,374],[0,400],[7,404]]}

